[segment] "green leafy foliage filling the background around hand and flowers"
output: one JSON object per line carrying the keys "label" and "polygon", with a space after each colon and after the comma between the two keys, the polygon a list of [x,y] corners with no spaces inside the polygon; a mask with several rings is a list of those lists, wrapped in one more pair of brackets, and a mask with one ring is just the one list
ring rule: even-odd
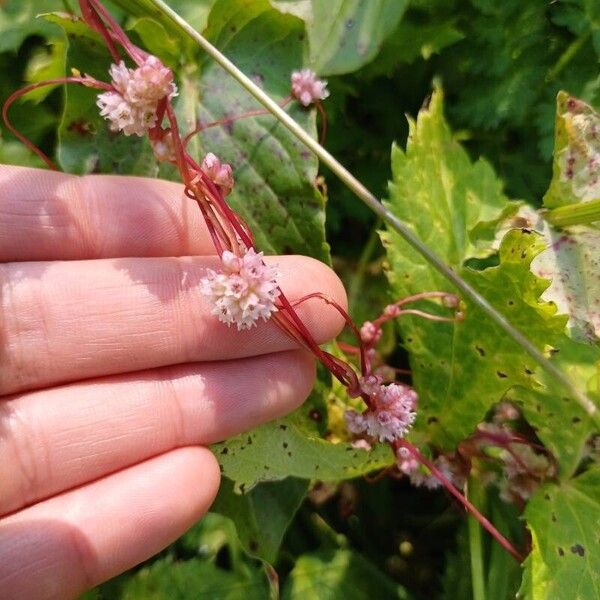
{"label": "green leafy foliage filling the background around hand and flowers", "polygon": [[[0,100],[24,82],[71,68],[105,78],[109,58],[94,34],[64,14],[74,12],[72,4],[0,4]],[[553,360],[597,398],[597,337],[573,335],[566,327],[573,315],[556,308],[560,291],[533,272],[545,256],[556,280],[565,278],[564,261],[547,254],[552,236],[562,232],[539,214],[526,230],[506,223],[517,212],[524,218],[524,207],[540,208],[549,187],[546,206],[577,202],[565,191],[559,161],[570,142],[569,115],[559,103],[555,145],[555,99],[566,90],[600,109],[598,2],[168,4],[277,100],[288,94],[294,68],[328,76],[326,147],[540,349],[559,350]],[[176,71],[176,109],[185,126],[256,107],[147,0],[108,6],[136,42]],[[316,136],[315,112],[290,110]],[[176,176],[154,163],[146,141],[107,132],[91,90],[44,88],[11,114],[65,170]],[[1,162],[40,166],[1,133]],[[393,298],[451,289],[271,117],[208,130],[194,143],[198,155],[210,150],[234,165],[231,200],[259,247],[332,261],[357,321]],[[315,186],[319,173],[326,194]],[[600,247],[594,226],[567,233],[584,248]],[[582,302],[600,296],[596,264],[577,263]],[[484,538],[485,597],[512,598],[519,589],[520,597],[535,600],[600,597],[600,475],[584,456],[593,425],[475,306],[464,309],[459,324],[406,318],[386,331],[389,360],[410,366],[420,395],[413,442],[425,451],[454,450],[494,404],[510,399],[560,466],[556,481],[525,509],[529,533],[514,507],[493,489],[482,491],[480,508],[517,545],[525,547],[530,536],[532,548],[521,569]],[[339,439],[342,398],[321,373],[296,413],[215,445],[224,483],[213,512],[89,597],[269,598],[278,585],[290,599],[470,599],[473,545],[463,515],[441,492],[362,479],[393,457],[387,447],[365,452]]]}

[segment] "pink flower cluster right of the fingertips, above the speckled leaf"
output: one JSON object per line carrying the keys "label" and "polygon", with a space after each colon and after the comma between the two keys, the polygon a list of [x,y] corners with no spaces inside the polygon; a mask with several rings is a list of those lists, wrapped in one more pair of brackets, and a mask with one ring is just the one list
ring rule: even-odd
{"label": "pink flower cluster right of the fingertips, above the speckled leaf", "polygon": [[348,431],[378,438],[380,442],[402,439],[416,418],[417,393],[401,383],[383,385],[376,375],[362,379],[361,389],[369,396],[371,407],[363,413],[345,412]]}

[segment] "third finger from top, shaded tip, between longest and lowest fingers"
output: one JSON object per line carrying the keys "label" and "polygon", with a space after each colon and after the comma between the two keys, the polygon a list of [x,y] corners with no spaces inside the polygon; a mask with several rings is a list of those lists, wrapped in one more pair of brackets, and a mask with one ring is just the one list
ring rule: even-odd
{"label": "third finger from top, shaded tip, between longest and lowest fingers", "polygon": [[195,363],[33,392],[0,404],[0,514],[178,446],[207,445],[308,396],[304,351]]}

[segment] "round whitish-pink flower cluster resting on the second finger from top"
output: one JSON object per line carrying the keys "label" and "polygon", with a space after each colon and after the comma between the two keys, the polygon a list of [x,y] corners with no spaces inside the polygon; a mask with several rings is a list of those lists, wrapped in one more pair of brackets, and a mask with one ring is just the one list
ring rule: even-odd
{"label": "round whitish-pink flower cluster resting on the second finger from top", "polygon": [[227,325],[235,323],[238,330],[250,329],[258,319],[266,321],[277,312],[277,270],[267,266],[262,256],[252,248],[242,257],[225,251],[222,272],[209,269],[200,281],[201,293],[214,304],[212,314]]}

